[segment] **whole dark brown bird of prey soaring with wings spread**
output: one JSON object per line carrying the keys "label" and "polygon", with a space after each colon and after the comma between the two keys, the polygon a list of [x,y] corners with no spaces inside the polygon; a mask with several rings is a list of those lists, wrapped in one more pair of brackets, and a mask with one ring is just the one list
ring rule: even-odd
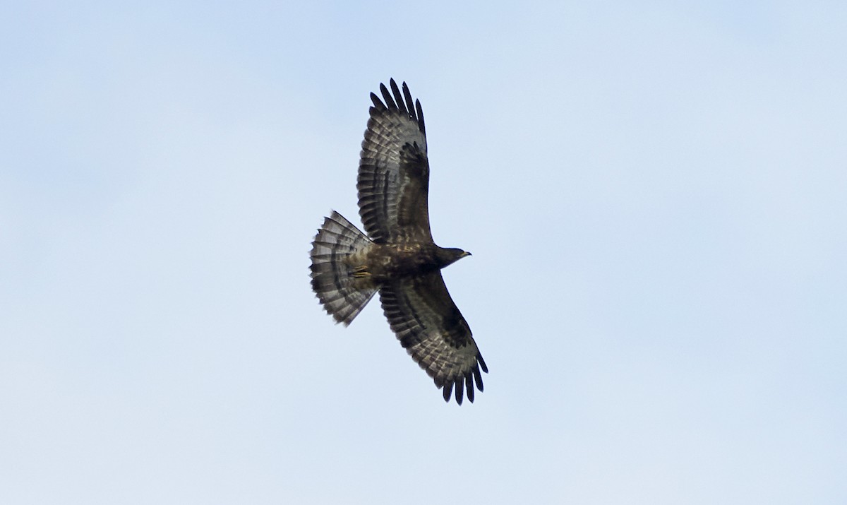
{"label": "whole dark brown bird of prey soaring with wings spread", "polygon": [[450,402],[488,373],[468,322],[440,270],[470,252],[438,247],[429,230],[429,161],[424,111],[404,82],[371,93],[358,170],[359,215],[366,236],[341,214],[324,219],[312,242],[312,288],[336,323],[350,325],[379,292],[391,330]]}

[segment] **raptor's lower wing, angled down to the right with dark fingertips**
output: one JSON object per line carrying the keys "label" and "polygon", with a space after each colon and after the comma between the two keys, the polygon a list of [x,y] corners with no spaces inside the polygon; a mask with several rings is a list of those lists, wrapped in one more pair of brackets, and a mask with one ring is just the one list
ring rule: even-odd
{"label": "raptor's lower wing, angled down to the right with dark fingertips", "polygon": [[[473,383],[483,390],[480,369],[488,373],[468,322],[456,307],[439,271],[382,286],[385,317],[412,359],[444,389],[450,401],[455,388],[461,405],[464,391],[473,402]],[[463,391],[464,390],[464,391]]]}

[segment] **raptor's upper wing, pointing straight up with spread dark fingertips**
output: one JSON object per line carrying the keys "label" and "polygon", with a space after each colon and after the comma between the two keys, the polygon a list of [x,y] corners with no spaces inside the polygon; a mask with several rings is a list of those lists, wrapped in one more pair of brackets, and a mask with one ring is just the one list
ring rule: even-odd
{"label": "raptor's upper wing, pointing straight up with spread dark fingertips", "polygon": [[362,142],[357,188],[359,214],[376,243],[432,241],[429,230],[429,161],[424,111],[412,102],[409,87],[402,93],[379,85],[383,103],[374,93],[368,130]]}

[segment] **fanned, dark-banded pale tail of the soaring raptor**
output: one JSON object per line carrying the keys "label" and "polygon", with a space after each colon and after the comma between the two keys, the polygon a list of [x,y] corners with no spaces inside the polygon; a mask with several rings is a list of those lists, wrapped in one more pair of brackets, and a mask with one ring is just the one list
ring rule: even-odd
{"label": "fanned, dark-banded pale tail of the soaring raptor", "polygon": [[312,242],[312,289],[336,322],[350,325],[374,297],[376,286],[353,276],[357,255],[373,242],[362,231],[332,211]]}

